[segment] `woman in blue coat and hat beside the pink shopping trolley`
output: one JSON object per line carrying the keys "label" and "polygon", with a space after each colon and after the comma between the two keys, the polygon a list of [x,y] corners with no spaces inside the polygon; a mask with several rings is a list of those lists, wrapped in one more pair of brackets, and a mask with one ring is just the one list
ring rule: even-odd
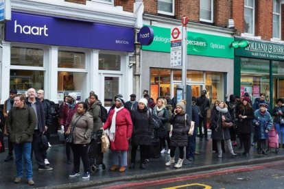
{"label": "woman in blue coat and hat beside the pink shopping trolley", "polygon": [[257,139],[257,153],[265,154],[267,153],[267,139],[268,131],[272,129],[272,116],[267,111],[268,105],[266,103],[259,104],[259,110],[255,111],[255,118],[252,120],[253,125],[255,125],[255,138]]}

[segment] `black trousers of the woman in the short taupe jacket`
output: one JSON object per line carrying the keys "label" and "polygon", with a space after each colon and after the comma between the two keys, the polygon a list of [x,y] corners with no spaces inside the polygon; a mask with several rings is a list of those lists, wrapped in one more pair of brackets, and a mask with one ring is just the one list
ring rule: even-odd
{"label": "black trousers of the woman in the short taupe jacket", "polygon": [[90,164],[88,162],[88,144],[73,144],[71,143],[73,151],[74,172],[80,172],[80,157],[84,165],[84,171],[90,172]]}

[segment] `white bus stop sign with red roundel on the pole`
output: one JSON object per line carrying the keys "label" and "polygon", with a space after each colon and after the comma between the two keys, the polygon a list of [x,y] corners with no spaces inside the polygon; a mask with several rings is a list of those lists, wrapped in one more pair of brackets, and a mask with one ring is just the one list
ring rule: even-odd
{"label": "white bus stop sign with red roundel on the pole", "polygon": [[171,63],[170,66],[182,65],[182,27],[171,28]]}

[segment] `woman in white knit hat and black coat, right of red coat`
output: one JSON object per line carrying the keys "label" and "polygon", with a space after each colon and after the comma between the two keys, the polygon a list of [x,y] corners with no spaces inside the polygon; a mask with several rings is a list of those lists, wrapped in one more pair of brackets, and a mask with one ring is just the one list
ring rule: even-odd
{"label": "woman in white knit hat and black coat, right of red coat", "polygon": [[129,168],[135,167],[136,152],[140,146],[140,168],[145,169],[147,150],[150,148],[152,135],[154,134],[153,116],[147,108],[147,99],[139,100],[137,110],[131,112],[133,131],[131,137],[131,164]]}

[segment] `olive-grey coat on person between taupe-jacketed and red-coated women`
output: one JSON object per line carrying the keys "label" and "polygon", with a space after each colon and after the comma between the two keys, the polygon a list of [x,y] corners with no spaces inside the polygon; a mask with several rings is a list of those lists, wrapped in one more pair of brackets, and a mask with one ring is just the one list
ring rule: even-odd
{"label": "olive-grey coat on person between taupe-jacketed and red-coated women", "polygon": [[90,108],[88,108],[88,112],[93,116],[93,132],[96,133],[99,131],[99,129],[102,127],[103,123],[101,118],[99,117],[101,115],[101,107],[102,105],[101,101],[97,100],[93,105],[91,105]]}

